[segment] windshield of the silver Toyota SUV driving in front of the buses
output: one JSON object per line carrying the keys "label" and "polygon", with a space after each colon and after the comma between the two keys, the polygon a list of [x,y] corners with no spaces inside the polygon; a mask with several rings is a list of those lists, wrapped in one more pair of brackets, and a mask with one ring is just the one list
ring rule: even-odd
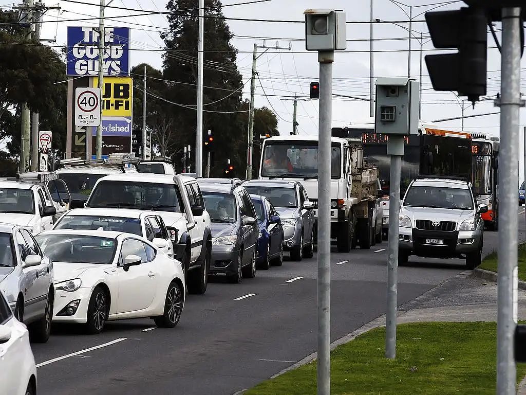
{"label": "windshield of the silver Toyota SUV driving in front of the buses", "polygon": [[473,210],[468,189],[440,186],[411,186],[403,204],[411,207]]}

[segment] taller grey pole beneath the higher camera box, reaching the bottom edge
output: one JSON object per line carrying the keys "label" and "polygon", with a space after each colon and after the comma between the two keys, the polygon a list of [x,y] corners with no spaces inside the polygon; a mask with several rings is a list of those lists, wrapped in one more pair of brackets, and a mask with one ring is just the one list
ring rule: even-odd
{"label": "taller grey pole beneath the higher camera box, reaching the bottom edge", "polygon": [[320,63],[318,143],[318,395],[330,394],[330,181],[332,62],[334,52],[318,52]]}

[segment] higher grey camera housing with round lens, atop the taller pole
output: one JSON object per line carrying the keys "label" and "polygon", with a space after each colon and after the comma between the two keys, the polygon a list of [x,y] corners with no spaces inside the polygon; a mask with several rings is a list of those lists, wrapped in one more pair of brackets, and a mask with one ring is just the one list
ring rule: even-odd
{"label": "higher grey camera housing with round lens, atop the taller pole", "polygon": [[340,51],[347,48],[345,12],[306,9],[304,14],[307,51]]}

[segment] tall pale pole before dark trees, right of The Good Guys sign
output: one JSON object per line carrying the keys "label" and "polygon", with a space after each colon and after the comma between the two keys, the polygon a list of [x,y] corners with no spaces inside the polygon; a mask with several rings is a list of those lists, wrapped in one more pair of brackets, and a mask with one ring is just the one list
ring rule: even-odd
{"label": "tall pale pole before dark trees, right of The Good Guys sign", "polygon": [[197,127],[196,176],[203,176],[203,55],[205,35],[205,0],[199,0],[199,37],[197,42]]}

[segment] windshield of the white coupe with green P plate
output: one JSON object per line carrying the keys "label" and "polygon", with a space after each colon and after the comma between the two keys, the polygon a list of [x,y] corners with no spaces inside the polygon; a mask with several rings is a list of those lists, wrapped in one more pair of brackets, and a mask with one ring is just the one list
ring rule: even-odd
{"label": "windshield of the white coupe with green P plate", "polygon": [[117,240],[91,235],[39,234],[35,239],[53,262],[108,265],[117,248]]}

